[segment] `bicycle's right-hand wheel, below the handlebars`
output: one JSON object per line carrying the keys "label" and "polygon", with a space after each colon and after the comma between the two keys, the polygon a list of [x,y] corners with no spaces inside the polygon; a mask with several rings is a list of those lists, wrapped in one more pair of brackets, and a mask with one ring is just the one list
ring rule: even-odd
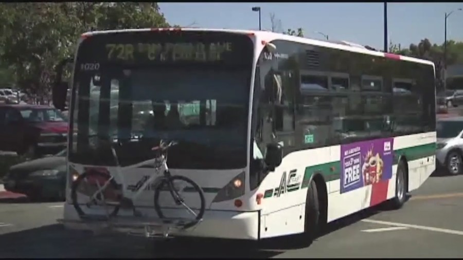
{"label": "bicycle's right-hand wheel, below the handlebars", "polygon": [[[164,207],[161,206],[162,204],[164,204],[160,203],[161,201],[166,202],[166,200],[169,199],[170,201],[174,201],[170,193],[171,190],[169,181],[172,183],[172,187],[174,188],[172,192],[184,201],[183,205],[181,205],[183,206],[183,209],[187,210],[188,213],[190,213],[191,215],[195,215],[194,218],[192,218],[191,221],[186,222],[183,225],[183,227],[187,229],[196,225],[203,218],[204,211],[206,210],[206,200],[204,198],[204,192],[201,189],[201,187],[199,187],[198,184],[196,184],[194,181],[185,176],[171,176],[170,178],[163,179],[156,186],[156,188],[154,189],[154,209],[156,210],[157,215],[162,219],[174,218],[172,216],[166,216],[163,210],[169,208],[175,210],[179,209],[179,205],[172,205],[172,203]],[[162,197],[161,192],[164,192],[164,195]],[[187,198],[185,198],[185,196],[182,196],[185,193],[188,194]],[[193,194],[198,195],[198,198],[196,199],[199,199],[200,205],[197,204],[197,200],[195,200],[195,196]],[[189,202],[193,202],[194,206],[196,207],[189,207]]]}

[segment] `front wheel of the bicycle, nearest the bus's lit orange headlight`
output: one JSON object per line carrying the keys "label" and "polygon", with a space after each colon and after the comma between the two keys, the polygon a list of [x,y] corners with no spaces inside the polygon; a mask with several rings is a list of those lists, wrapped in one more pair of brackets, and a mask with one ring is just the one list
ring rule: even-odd
{"label": "front wheel of the bicycle, nearest the bus's lit orange headlight", "polygon": [[[175,197],[181,200],[180,204],[176,203]],[[185,229],[190,228],[203,218],[206,210],[204,192],[197,183],[185,176],[165,178],[154,189],[154,209],[162,219],[188,219],[191,216],[191,220],[183,224]],[[180,209],[186,212],[181,213]],[[167,212],[170,214],[165,214]]]}

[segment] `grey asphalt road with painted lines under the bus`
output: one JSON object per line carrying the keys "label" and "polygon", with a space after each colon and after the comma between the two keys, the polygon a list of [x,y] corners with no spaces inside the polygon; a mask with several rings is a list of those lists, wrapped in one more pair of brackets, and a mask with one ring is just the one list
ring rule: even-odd
{"label": "grey asphalt road with painted lines under the bus", "polygon": [[259,250],[204,239],[160,244],[123,235],[89,237],[56,224],[62,203],[0,202],[0,257],[463,257],[461,187],[463,176],[434,176],[400,210],[354,214],[330,224],[310,246],[286,237]]}

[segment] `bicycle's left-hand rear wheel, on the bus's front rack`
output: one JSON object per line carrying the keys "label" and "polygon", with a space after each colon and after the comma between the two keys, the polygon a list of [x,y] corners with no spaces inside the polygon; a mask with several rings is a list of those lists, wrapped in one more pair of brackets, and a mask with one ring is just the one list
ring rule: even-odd
{"label": "bicycle's left-hand rear wheel, on the bus's front rack", "polygon": [[[110,178],[110,175],[100,172],[85,172],[79,175],[73,182],[71,200],[80,217],[88,215],[88,212],[85,213],[83,209],[90,212],[94,210],[94,212],[97,212],[95,214],[98,215],[100,215],[101,212],[106,213],[106,210],[108,210],[109,217],[117,215],[120,207],[120,196],[115,193],[118,189],[118,185],[114,179],[111,179],[106,188],[95,197],[97,201],[105,205],[95,205],[95,203],[91,203],[90,201],[91,197],[98,191],[98,186],[103,187]],[[103,194],[103,196],[101,196],[101,194]]]}

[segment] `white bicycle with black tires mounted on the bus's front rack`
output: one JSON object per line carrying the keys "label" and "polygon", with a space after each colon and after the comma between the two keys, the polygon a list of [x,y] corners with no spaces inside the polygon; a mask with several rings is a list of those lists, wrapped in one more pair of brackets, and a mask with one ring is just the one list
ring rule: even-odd
{"label": "white bicycle with black tires mounted on the bus's front rack", "polygon": [[[80,203],[77,201],[77,193],[80,191],[80,184],[85,181],[88,183],[88,179],[90,180],[96,180],[96,185],[97,185],[97,191],[94,192],[92,195],[90,195],[90,200],[84,203],[84,205],[87,208],[90,208],[92,206],[98,205],[98,206],[104,206],[106,210],[106,220],[109,220],[111,218],[114,218],[117,216],[119,209],[132,209],[133,210],[133,215],[135,217],[142,217],[143,215],[136,210],[135,205],[133,203],[134,200],[138,198],[138,196],[145,190],[145,188],[148,187],[149,184],[151,184],[151,187],[154,188],[154,209],[158,215],[159,218],[166,220],[166,217],[162,211],[162,208],[159,206],[159,194],[161,191],[164,189],[165,185],[167,185],[167,190],[170,192],[170,195],[175,201],[175,204],[177,206],[184,206],[190,213],[195,215],[194,220],[187,222],[186,224],[183,224],[182,227],[183,229],[187,229],[189,227],[192,227],[198,222],[202,220],[202,217],[205,212],[205,198],[204,198],[204,192],[199,187],[197,183],[195,183],[193,180],[185,177],[185,176],[180,176],[180,175],[171,175],[170,171],[167,167],[167,150],[169,147],[175,145],[176,142],[169,142],[167,145],[166,143],[161,140],[159,142],[158,146],[152,147],[151,150],[155,152],[155,157],[154,159],[150,159],[148,161],[153,161],[154,160],[154,173],[151,174],[151,176],[145,176],[143,179],[141,179],[136,187],[134,188],[134,195],[127,195],[126,190],[127,190],[127,185],[123,181],[123,175],[120,172],[120,164],[119,164],[119,159],[117,157],[116,151],[111,144],[111,151],[113,154],[113,157],[116,162],[116,173],[119,176],[120,180],[122,180],[122,184],[118,184],[115,181],[115,178],[113,175],[110,175],[108,173],[102,173],[99,171],[85,171],[84,173],[80,174],[77,179],[73,182],[72,184],[72,190],[71,190],[71,198],[72,198],[72,203],[74,208],[76,209],[77,213],[79,214],[79,217],[81,219],[84,219],[87,214],[82,210],[80,207]],[[148,161],[144,161],[141,163],[137,163],[134,165],[126,166],[124,168],[136,168],[140,165],[146,165]],[[163,175],[158,176],[158,174],[162,171]],[[99,182],[103,180],[102,185],[99,184]],[[200,195],[200,201],[201,201],[201,207],[199,214],[196,214],[191,208],[189,208],[185,200],[180,196],[179,191],[175,189],[173,181],[175,180],[180,180],[188,183],[195,192],[197,192]],[[108,190],[108,188],[110,188]],[[184,188],[185,189],[185,188]],[[112,201],[106,201],[106,199],[110,199]],[[108,206],[114,207],[114,209],[109,212],[108,211]]]}

